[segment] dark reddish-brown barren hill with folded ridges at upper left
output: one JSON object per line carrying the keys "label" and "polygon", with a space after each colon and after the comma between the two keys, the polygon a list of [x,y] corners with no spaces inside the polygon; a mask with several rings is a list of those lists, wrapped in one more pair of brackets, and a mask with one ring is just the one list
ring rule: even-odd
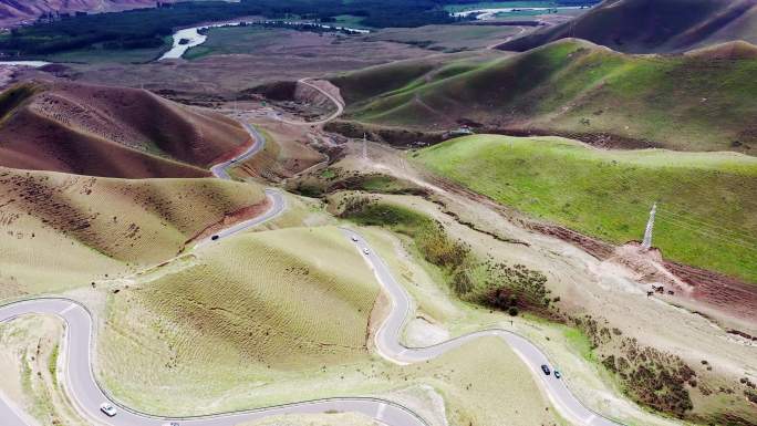
{"label": "dark reddish-brown barren hill with folded ridges at upper left", "polygon": [[45,81],[0,94],[0,165],[7,167],[204,177],[249,138],[231,118],[143,90]]}

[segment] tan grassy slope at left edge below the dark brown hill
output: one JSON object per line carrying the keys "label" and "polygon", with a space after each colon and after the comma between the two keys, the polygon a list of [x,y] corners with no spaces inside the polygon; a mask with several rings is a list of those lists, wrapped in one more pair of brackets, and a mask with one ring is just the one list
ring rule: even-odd
{"label": "tan grassy slope at left edge below the dark brown hill", "polygon": [[170,259],[262,189],[220,179],[128,180],[0,168],[0,300]]}

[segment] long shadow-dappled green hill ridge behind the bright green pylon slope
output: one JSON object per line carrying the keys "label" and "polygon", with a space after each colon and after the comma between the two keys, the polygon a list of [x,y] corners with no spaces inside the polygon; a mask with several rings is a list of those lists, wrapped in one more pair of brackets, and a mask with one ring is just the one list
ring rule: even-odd
{"label": "long shadow-dappled green hill ridge behind the bright green pylon slope", "polygon": [[334,79],[346,117],[425,131],[474,122],[615,146],[757,148],[757,48],[746,43],[637,56],[562,40],[514,56],[416,70],[421,75],[386,67]]}

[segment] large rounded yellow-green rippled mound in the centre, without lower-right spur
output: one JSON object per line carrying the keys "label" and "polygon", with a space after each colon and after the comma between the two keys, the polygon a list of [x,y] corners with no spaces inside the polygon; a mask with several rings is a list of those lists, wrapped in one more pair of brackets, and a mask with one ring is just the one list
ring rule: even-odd
{"label": "large rounded yellow-green rippled mound in the centre, without lower-right spur", "polygon": [[240,235],[195,256],[110,301],[100,374],[126,401],[234,407],[289,372],[366,356],[378,285],[336,228]]}

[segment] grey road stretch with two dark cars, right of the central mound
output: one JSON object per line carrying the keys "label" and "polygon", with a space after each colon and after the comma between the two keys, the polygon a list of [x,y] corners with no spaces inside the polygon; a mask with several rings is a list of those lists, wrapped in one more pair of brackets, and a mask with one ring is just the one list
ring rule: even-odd
{"label": "grey road stretch with two dark cars, right of the central mound", "polygon": [[[447,351],[459,347],[473,340],[485,336],[502,339],[518,354],[535,375],[536,382],[547,394],[552,405],[571,423],[588,426],[622,426],[584,406],[568,388],[562,380],[541,372],[541,365],[553,365],[547,355],[525,336],[505,329],[486,329],[466,333],[442,343],[425,347],[407,347],[401,343],[401,333],[407,318],[412,313],[412,299],[393,277],[383,259],[376,254],[367,240],[359,232],[340,227],[346,238],[361,251],[366,263],[373,270],[376,280],[390,297],[392,309],[374,335],[374,343],[380,355],[397,364],[412,364],[439,356]],[[553,368],[551,368],[553,370]]]}

